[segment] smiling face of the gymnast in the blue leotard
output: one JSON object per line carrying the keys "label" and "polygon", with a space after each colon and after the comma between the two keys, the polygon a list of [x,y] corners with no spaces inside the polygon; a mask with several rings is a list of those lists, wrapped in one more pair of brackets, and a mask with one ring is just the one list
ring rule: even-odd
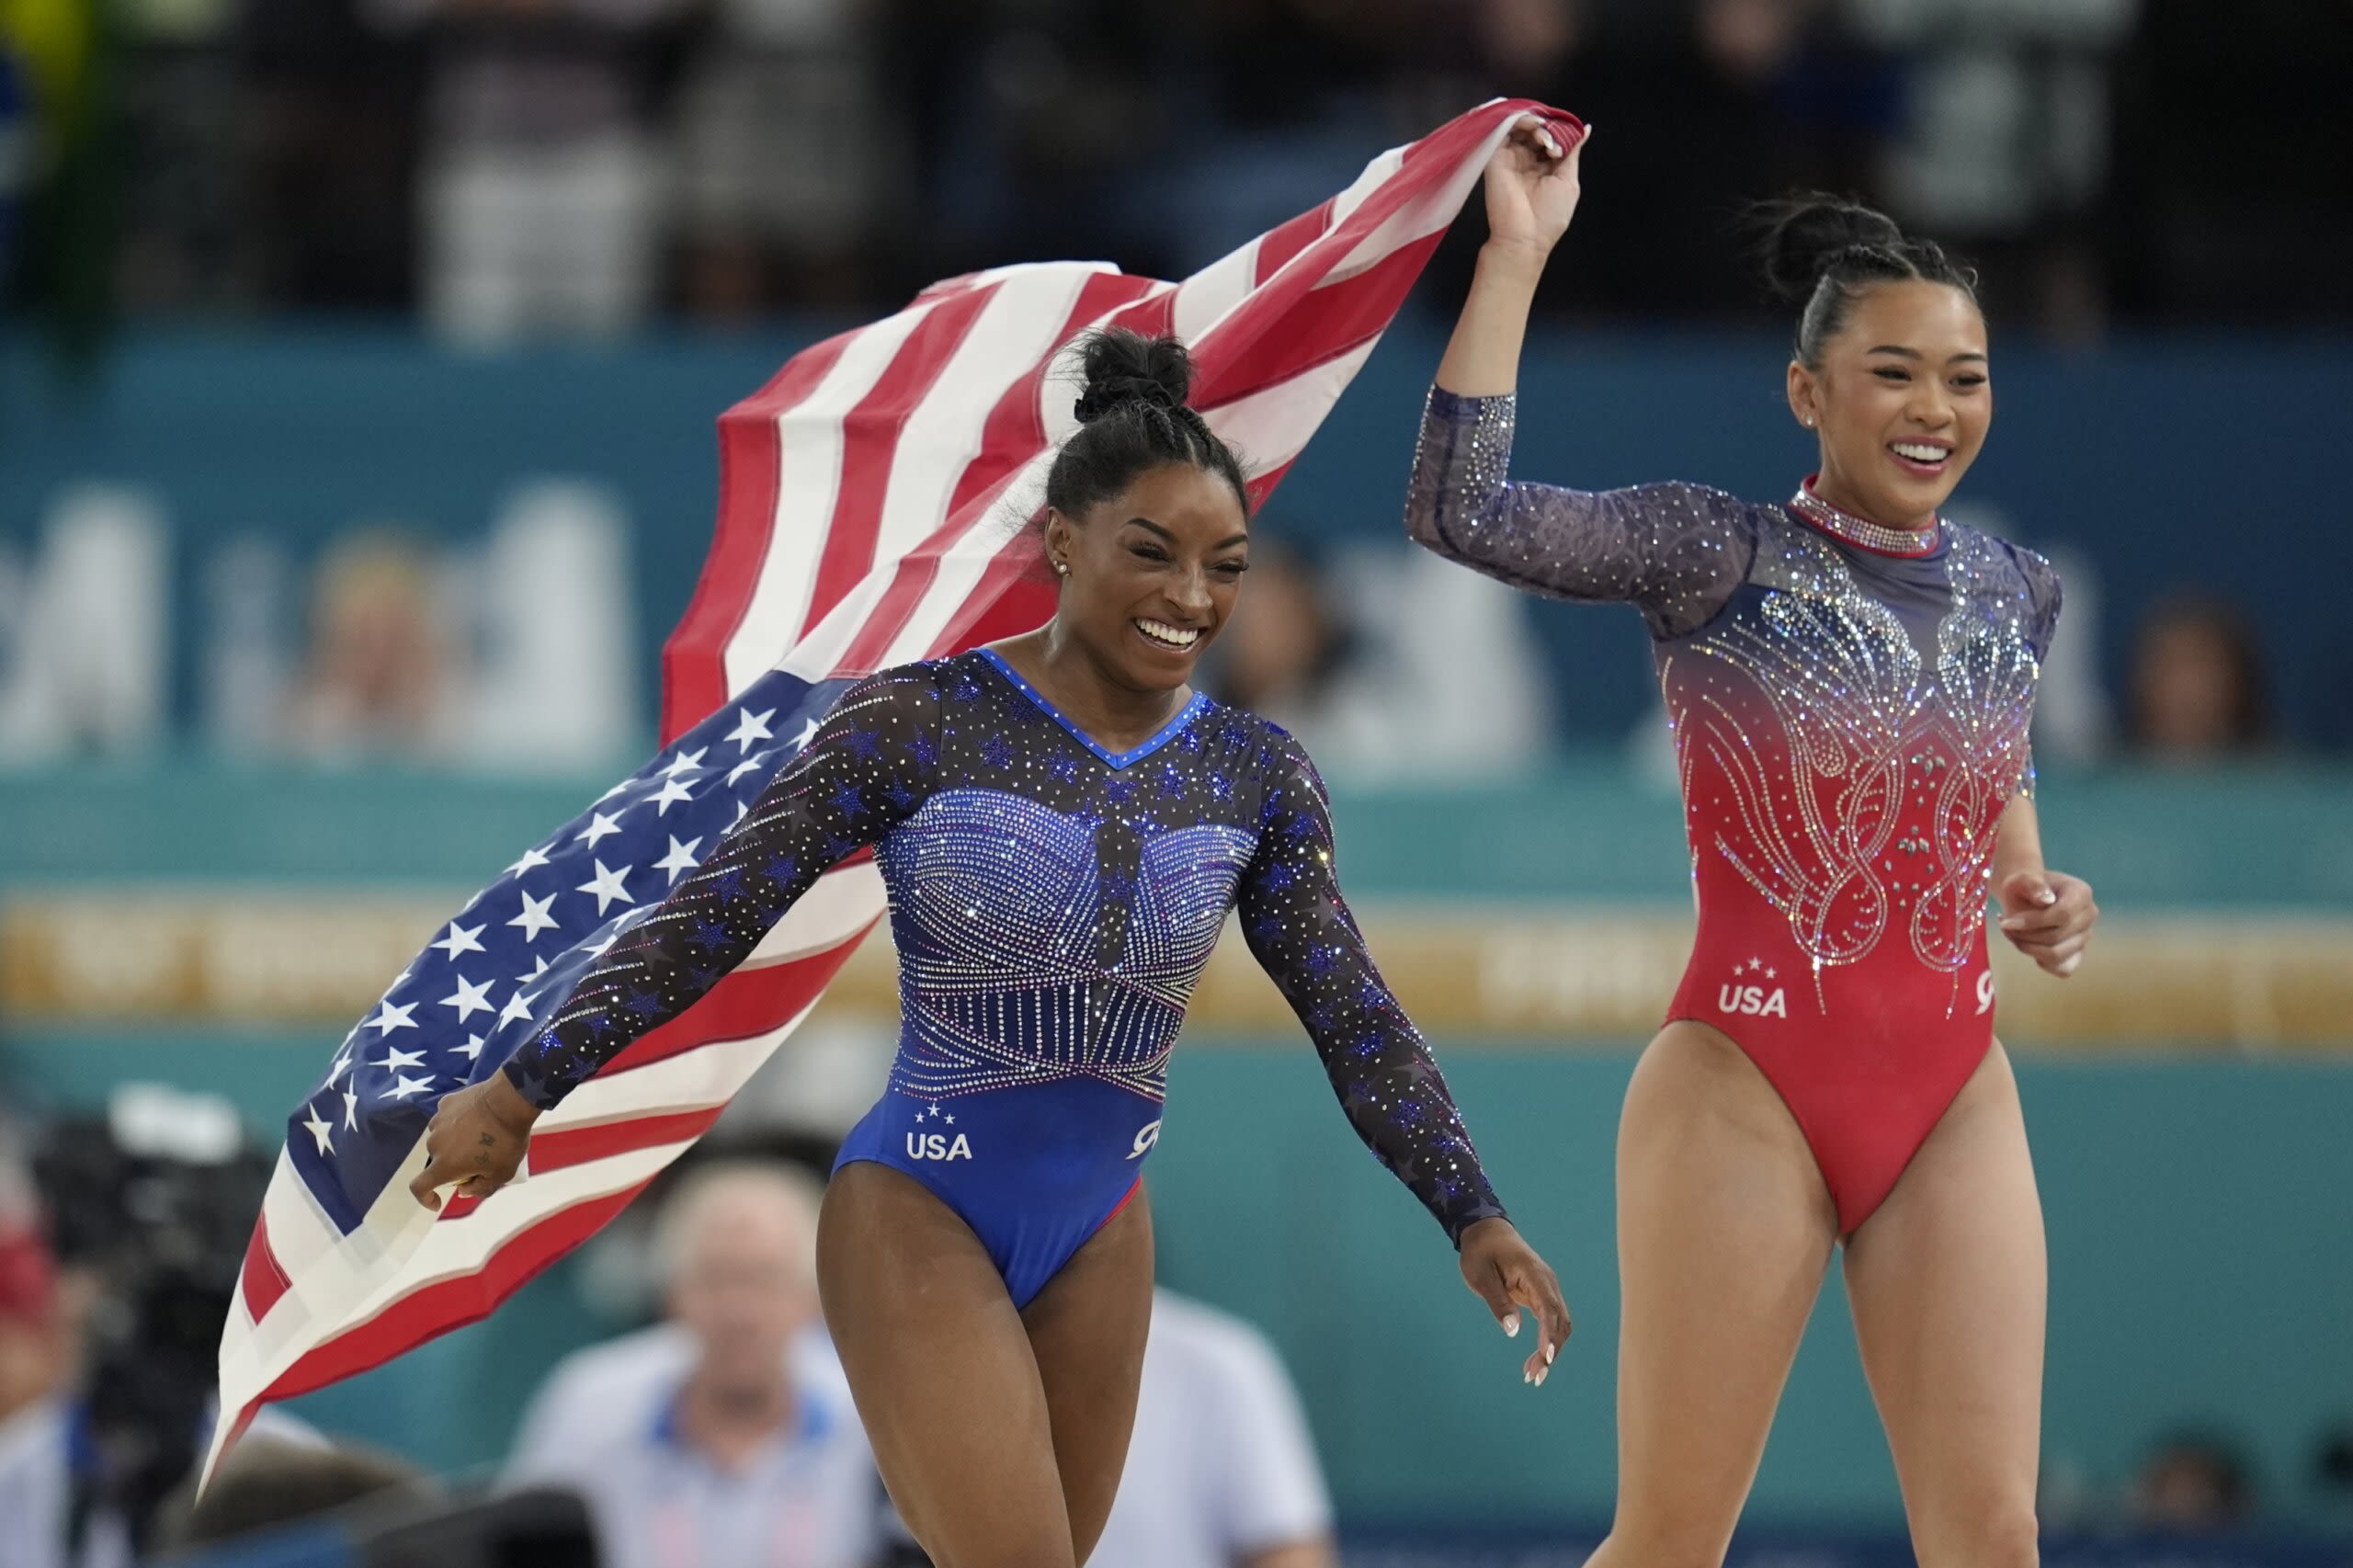
{"label": "smiling face of the gymnast in the blue leotard", "polygon": [[1059,631],[1113,685],[1174,692],[1233,614],[1249,570],[1249,520],[1217,473],[1162,464],[1082,518],[1049,513],[1045,549],[1071,567],[1054,610]]}

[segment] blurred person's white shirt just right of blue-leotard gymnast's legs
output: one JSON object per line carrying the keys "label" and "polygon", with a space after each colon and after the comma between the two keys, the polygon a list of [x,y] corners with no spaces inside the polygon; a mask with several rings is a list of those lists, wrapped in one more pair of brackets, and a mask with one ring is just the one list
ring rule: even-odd
{"label": "blurred person's white shirt just right of blue-leotard gymnast's legs", "polygon": [[1332,1500],[1299,1394],[1242,1318],[1153,1293],[1136,1429],[1092,1561],[1337,1568]]}

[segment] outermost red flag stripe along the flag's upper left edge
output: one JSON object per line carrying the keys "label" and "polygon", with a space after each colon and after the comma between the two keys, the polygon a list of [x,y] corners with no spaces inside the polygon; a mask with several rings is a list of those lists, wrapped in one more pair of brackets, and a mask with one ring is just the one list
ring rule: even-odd
{"label": "outermost red flag stripe along the flag's upper left edge", "polygon": [[727,702],[727,643],[751,612],[753,591],[776,537],[781,454],[776,414],[798,407],[854,332],[826,339],[786,360],[767,386],[720,417],[720,509],[711,556],[694,582],[678,631],[661,647],[661,744],[708,718]]}

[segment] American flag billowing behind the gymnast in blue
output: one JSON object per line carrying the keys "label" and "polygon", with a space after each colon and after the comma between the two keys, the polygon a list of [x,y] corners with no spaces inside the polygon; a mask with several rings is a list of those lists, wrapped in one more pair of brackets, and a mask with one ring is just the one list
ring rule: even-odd
{"label": "American flag billowing behind the gymnast in blue", "polygon": [[[1059,351],[1176,332],[1195,403],[1264,499],[1372,353],[1513,118],[1485,104],[1184,283],[1049,261],[925,290],[798,353],[720,419],[720,516],[664,650],[664,751],[461,909],[344,1038],[287,1123],[221,1335],[205,1474],[268,1401],[487,1316],[678,1158],[882,916],[828,871],[692,1010],[539,1118],[525,1177],[431,1215],[407,1194],[440,1095],[480,1081],[744,817],[868,671],[1038,626],[1021,525],[1075,428]],[[1400,476],[1405,459],[1400,454]]]}

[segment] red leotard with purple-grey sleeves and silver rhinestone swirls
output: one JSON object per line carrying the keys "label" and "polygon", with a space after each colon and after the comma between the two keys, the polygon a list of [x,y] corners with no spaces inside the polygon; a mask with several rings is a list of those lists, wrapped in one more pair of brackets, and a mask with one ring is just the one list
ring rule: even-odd
{"label": "red leotard with purple-grey sleeves and silver rhinestone swirls", "polygon": [[1489,577],[1633,603],[1675,730],[1699,935],[1668,1010],[1732,1036],[1852,1231],[1993,1038],[1986,876],[2059,617],[2049,563],[1809,487],[1508,480],[1513,398],[1440,388],[1407,527]]}

